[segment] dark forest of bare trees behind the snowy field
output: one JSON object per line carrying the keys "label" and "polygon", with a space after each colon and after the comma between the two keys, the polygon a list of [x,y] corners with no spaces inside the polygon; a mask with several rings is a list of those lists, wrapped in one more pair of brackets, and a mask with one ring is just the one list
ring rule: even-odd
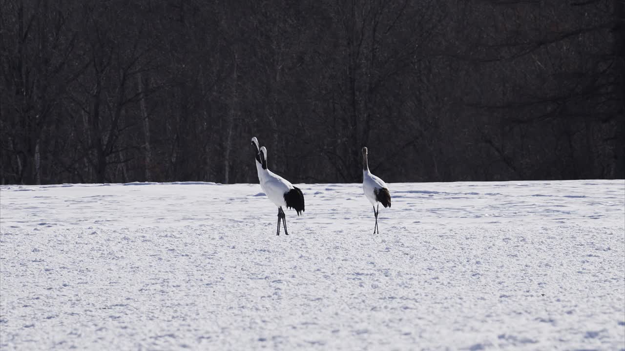
{"label": "dark forest of bare trees behind the snowy field", "polygon": [[2,184],[625,178],[622,0],[0,4]]}

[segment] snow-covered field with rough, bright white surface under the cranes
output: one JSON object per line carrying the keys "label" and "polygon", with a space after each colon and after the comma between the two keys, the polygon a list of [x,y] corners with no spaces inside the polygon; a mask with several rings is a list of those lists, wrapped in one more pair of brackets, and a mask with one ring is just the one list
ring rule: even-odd
{"label": "snow-covered field with rough, bright white surface under the cranes", "polygon": [[625,182],[2,186],[4,350],[625,349]]}

